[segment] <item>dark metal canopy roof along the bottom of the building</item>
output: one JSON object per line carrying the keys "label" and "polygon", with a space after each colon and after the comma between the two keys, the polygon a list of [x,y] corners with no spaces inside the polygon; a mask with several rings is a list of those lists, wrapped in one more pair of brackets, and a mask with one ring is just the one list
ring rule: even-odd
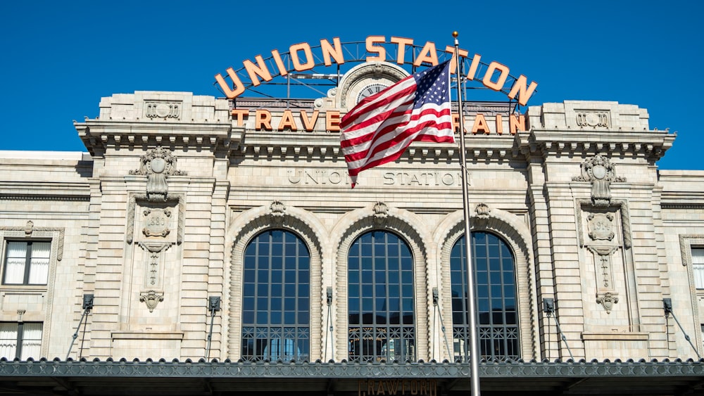
{"label": "dark metal canopy roof along the bottom of the building", "polygon": [[[0,360],[0,393],[33,395],[366,395],[380,383],[425,381],[437,395],[468,395],[468,363],[128,362]],[[482,362],[482,394],[700,395],[704,359],[634,362]],[[368,387],[368,388],[365,388]],[[383,386],[382,388],[384,389]],[[384,392],[382,390],[382,392]],[[410,394],[407,392],[407,394]],[[420,394],[420,393],[417,393]],[[398,392],[401,395],[401,392]]]}

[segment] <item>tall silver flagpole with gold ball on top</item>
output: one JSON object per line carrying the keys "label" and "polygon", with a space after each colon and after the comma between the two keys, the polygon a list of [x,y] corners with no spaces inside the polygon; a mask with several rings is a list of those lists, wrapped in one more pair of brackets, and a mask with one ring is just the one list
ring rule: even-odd
{"label": "tall silver flagpole with gold ball on top", "polygon": [[465,213],[465,260],[467,268],[467,323],[470,324],[470,380],[472,381],[472,396],[479,396],[479,343],[477,343],[477,302],[474,301],[474,271],[472,271],[472,234],[470,234],[470,196],[467,177],[467,155],[465,153],[465,128],[462,110],[462,87],[460,76],[460,44],[457,40],[458,32],[452,32],[455,38],[455,63],[457,65],[457,109],[460,113],[460,168],[462,176],[462,207]]}

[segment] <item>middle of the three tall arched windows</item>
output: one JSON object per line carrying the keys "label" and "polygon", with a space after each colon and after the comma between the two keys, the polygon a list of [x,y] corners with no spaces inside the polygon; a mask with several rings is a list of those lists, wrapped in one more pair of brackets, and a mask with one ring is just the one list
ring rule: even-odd
{"label": "middle of the three tall arched windows", "polygon": [[352,244],[347,266],[349,360],[415,360],[413,255],[406,242],[367,232]]}

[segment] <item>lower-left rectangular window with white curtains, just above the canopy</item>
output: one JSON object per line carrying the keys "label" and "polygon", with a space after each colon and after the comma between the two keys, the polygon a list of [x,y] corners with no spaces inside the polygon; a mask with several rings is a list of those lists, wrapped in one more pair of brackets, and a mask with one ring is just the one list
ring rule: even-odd
{"label": "lower-left rectangular window with white curtains, just above the canopy", "polygon": [[41,353],[41,323],[0,323],[0,357],[39,359]]}

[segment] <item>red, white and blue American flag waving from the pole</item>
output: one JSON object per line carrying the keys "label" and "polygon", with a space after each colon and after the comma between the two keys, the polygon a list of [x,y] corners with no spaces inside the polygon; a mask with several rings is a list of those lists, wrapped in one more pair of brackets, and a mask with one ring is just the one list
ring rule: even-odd
{"label": "red, white and blue American flag waving from the pole", "polygon": [[340,127],[352,188],[359,172],[398,159],[413,141],[454,143],[450,62],[365,98],[342,117]]}

